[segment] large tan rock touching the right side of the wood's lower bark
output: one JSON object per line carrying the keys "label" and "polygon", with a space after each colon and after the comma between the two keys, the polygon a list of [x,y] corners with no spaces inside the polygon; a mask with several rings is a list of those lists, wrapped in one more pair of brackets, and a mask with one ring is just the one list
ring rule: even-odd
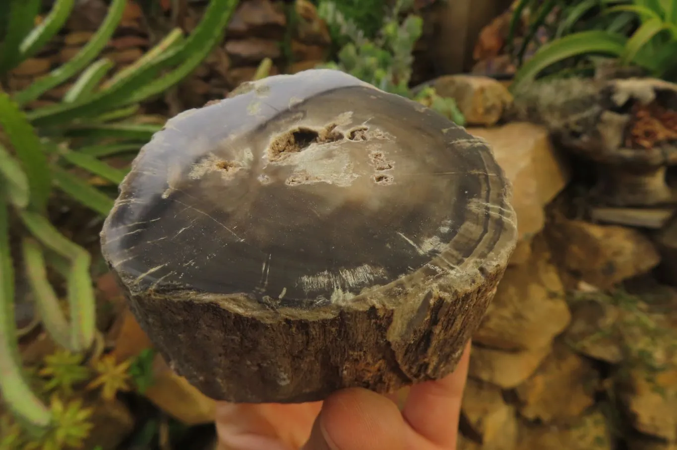
{"label": "large tan rock touching the right side of the wood's lower bark", "polygon": [[473,341],[503,350],[544,348],[570,319],[564,287],[539,236],[529,261],[507,268]]}

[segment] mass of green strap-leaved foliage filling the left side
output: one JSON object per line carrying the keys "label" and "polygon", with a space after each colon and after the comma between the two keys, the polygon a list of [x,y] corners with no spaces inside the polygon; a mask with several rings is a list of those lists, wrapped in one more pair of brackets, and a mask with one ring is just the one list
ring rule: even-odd
{"label": "mass of green strap-leaved foliage filling the left side", "polygon": [[[14,415],[3,418],[3,424],[11,428],[8,440],[18,423],[33,436],[22,445],[56,450],[74,446],[89,432],[86,409],[71,394],[72,386],[91,373],[83,366],[84,355],[97,331],[91,255],[53,225],[48,206],[56,195],[66,195],[95,214],[108,214],[127,171],[106,159],[139,150],[162,127],[139,123],[139,104],[163,94],[208,56],[223,39],[238,1],[211,0],[190,35],[176,28],[131,66],[111,73],[113,62],[100,55],[125,8],[125,0],[112,0],[104,22],[79,53],[14,92],[6,89],[12,70],[38,55],[63,28],[75,0],[53,1],[46,16],[40,15],[40,0],[0,3],[0,392]],[[45,92],[70,81],[62,102],[35,104]],[[45,392],[53,392],[49,406],[45,392],[32,389],[16,342],[18,264],[24,266],[20,272],[26,274],[37,314],[62,348],[41,369],[47,377]],[[48,273],[62,277],[67,310]],[[107,396],[125,388],[127,367],[109,364],[103,369],[115,377],[95,381],[95,387],[106,388]]]}

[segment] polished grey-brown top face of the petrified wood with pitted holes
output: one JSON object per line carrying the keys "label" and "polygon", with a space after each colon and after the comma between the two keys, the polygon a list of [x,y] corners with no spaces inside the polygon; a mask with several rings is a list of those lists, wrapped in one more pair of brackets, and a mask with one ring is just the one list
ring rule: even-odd
{"label": "polished grey-brown top face of the petrified wood with pitted holes", "polygon": [[242,91],[171,119],[121,185],[102,245],[132,292],[321,306],[514,228],[491,151],[441,115],[334,70]]}

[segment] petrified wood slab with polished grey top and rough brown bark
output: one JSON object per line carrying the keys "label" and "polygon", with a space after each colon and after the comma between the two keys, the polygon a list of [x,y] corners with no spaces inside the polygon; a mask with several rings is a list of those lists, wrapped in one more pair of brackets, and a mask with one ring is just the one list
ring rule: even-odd
{"label": "petrified wood slab with polished grey top and rough brown bark", "polygon": [[171,119],[102,230],[131,308],[207,396],[303,402],[450,373],[517,237],[483,140],[334,70]]}

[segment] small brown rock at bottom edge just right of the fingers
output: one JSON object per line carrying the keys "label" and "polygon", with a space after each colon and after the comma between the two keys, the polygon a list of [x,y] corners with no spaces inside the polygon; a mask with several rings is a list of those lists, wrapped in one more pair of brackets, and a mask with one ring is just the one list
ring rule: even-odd
{"label": "small brown rock at bottom edge just right of the fingers", "polygon": [[[508,449],[517,441],[515,408],[507,405],[498,386],[469,378],[463,392],[462,423],[482,448]],[[512,430],[513,433],[508,433]]]}

